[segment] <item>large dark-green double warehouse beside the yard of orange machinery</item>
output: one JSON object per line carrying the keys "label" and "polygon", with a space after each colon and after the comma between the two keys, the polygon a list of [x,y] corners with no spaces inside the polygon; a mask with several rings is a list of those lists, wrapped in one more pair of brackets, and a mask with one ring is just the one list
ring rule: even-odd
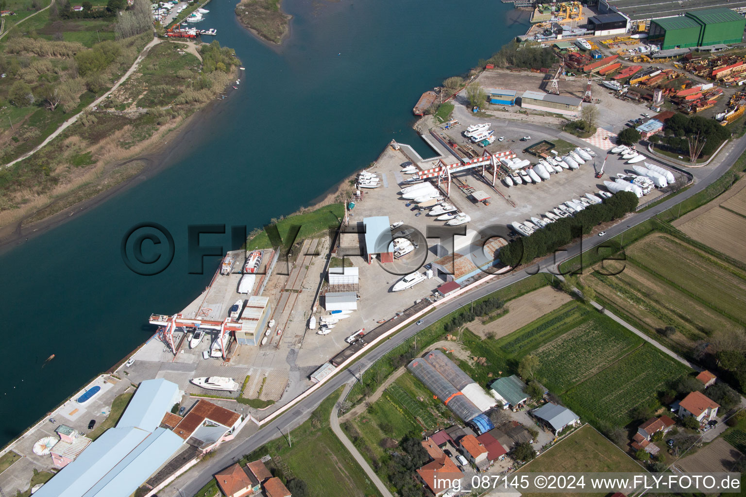
{"label": "large dark-green double warehouse beside the yard of orange machinery", "polygon": [[746,19],[725,7],[687,12],[684,16],[653,19],[648,39],[661,43],[661,50],[720,43],[739,43]]}

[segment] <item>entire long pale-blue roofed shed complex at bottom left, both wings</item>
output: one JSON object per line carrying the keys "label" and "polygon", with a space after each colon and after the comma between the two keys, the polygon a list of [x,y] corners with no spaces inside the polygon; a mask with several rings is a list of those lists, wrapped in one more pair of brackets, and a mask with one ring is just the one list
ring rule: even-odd
{"label": "entire long pale-blue roofed shed complex at bottom left, both wings", "polygon": [[142,382],[116,427],[104,431],[34,496],[131,496],[184,446],[181,437],[158,426],[174,399],[180,398],[175,383]]}

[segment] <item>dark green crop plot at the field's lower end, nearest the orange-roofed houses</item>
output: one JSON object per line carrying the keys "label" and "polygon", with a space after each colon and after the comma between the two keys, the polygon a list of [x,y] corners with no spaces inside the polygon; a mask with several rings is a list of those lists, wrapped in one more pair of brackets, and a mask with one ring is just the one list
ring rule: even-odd
{"label": "dark green crop plot at the field's lower end, nearest the orange-roofed houses", "polygon": [[643,344],[564,393],[562,400],[581,417],[624,426],[632,421],[630,411],[638,405],[659,405],[656,394],[687,373],[674,358]]}

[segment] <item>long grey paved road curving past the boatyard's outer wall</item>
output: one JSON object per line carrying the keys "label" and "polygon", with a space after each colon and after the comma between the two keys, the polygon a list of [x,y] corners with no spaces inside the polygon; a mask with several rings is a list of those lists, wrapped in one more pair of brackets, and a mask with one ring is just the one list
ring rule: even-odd
{"label": "long grey paved road curving past the boatyard's outer wall", "polygon": [[[541,127],[536,124],[524,124],[511,121],[510,126],[516,129],[536,130],[541,133],[557,133],[557,130],[554,130],[554,128]],[[491,294],[494,291],[498,291],[501,288],[513,285],[513,283],[521,281],[521,279],[530,276],[530,274],[535,273],[537,270],[554,270],[554,268],[560,262],[566,259],[571,259],[581,252],[592,250],[594,247],[597,247],[599,244],[606,241],[607,238],[620,235],[630,227],[634,227],[637,224],[647,221],[654,215],[659,214],[659,212],[662,212],[665,209],[670,209],[677,203],[686,200],[689,197],[692,197],[692,195],[697,194],[698,192],[705,189],[706,186],[709,186],[710,183],[717,180],[718,177],[721,177],[730,168],[730,166],[733,165],[733,162],[735,162],[736,159],[738,159],[739,156],[741,156],[742,153],[746,151],[746,137],[736,140],[736,142],[733,143],[733,147],[729,147],[728,149],[728,151],[724,150],[721,152],[725,155],[723,156],[723,159],[721,159],[721,163],[719,165],[709,166],[707,168],[708,171],[703,171],[701,169],[698,171],[701,179],[693,186],[691,186],[688,190],[683,191],[676,197],[671,197],[667,200],[664,200],[653,209],[648,209],[645,212],[639,212],[635,215],[632,215],[630,218],[627,218],[626,221],[623,221],[613,227],[610,227],[609,229],[606,229],[607,235],[604,238],[601,238],[599,236],[591,236],[589,238],[585,238],[582,242],[568,247],[566,252],[557,253],[554,260],[553,258],[548,258],[545,259],[545,261],[542,262],[540,265],[535,265],[532,268],[521,268],[520,270],[515,270],[513,271],[513,273],[509,273],[508,275],[503,276],[500,279],[495,279],[494,281],[487,282],[484,285],[480,285],[479,288],[474,289],[474,291],[463,294],[460,297],[457,297],[454,300],[451,300],[450,302],[435,308],[435,310],[433,310],[432,312],[430,312],[430,314],[427,314],[427,316],[423,318],[424,323],[421,326],[410,325],[407,326],[407,328],[402,329],[396,335],[389,338],[389,340],[377,346],[363,358],[360,358],[360,360],[355,363],[355,367],[357,368],[359,366],[362,368],[362,370],[366,370],[371,364],[374,363],[374,361],[389,352],[395,346],[398,346],[407,339],[413,337],[413,335],[416,335],[416,333],[419,332],[421,329],[424,329],[424,327],[435,323],[437,320],[445,317],[445,315],[451,313],[452,311],[455,311],[457,308],[467,305],[472,300],[476,300],[480,297]],[[292,429],[300,425],[301,422],[303,422],[310,416],[316,406],[318,406],[323,399],[325,399],[327,396],[330,396],[339,387],[342,387],[342,385],[348,382],[353,375],[354,373],[352,373],[350,370],[344,370],[340,373],[337,373],[336,376],[323,384],[322,387],[319,387],[319,390],[311,393],[309,396],[307,396],[306,399],[298,403],[298,405],[290,408],[289,411],[280,414],[271,422],[263,425],[254,434],[251,434],[251,436],[243,440],[236,440],[232,443],[225,444],[225,446],[220,449],[216,457],[207,460],[206,463],[201,463],[200,466],[198,466],[198,469],[193,470],[192,472],[187,472],[186,475],[181,476],[181,478],[176,481],[175,486],[169,486],[168,488],[163,489],[161,492],[159,492],[159,495],[162,497],[183,497],[184,495],[193,496],[201,487],[204,486],[204,484],[207,484],[207,482],[210,481],[210,478],[212,478],[212,475],[214,473],[233,463],[233,460],[242,457],[242,455],[248,454],[249,452],[259,448],[270,440],[279,437],[280,429],[285,431],[288,428]],[[180,494],[180,491],[183,492],[183,494]]]}

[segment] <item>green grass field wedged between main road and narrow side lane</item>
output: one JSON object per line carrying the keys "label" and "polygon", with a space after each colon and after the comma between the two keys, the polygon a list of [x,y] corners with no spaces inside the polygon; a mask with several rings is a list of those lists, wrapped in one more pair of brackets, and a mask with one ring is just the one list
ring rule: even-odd
{"label": "green grass field wedged between main road and narrow side lane", "polygon": [[[339,399],[340,387],[316,408],[310,420],[290,432],[290,447],[285,437],[266,443],[241,462],[271,455],[281,458],[295,478],[305,481],[313,497],[379,496],[374,484],[366,478],[347,449],[329,427],[329,416]],[[281,479],[286,476],[279,471]]]}

